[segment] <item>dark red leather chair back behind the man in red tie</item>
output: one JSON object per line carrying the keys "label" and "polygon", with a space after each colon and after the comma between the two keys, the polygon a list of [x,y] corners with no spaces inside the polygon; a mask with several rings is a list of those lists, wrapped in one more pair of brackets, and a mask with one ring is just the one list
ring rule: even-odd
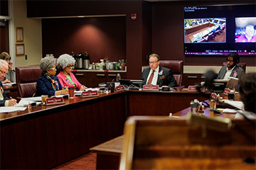
{"label": "dark red leather chair back behind the man in red tie", "polygon": [[166,67],[171,69],[171,72],[174,74],[174,78],[177,81],[177,86],[182,84],[183,76],[183,61],[182,60],[160,60],[161,67]]}

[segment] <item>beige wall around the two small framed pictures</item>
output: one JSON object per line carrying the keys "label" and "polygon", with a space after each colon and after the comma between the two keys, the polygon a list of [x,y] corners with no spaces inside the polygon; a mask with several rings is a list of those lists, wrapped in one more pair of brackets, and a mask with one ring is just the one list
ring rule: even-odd
{"label": "beige wall around the two small framed pictures", "polygon": [[[42,32],[41,19],[26,17],[26,1],[13,1],[14,31],[16,27],[23,27],[23,42],[25,46],[25,55],[15,57],[15,66],[38,65],[42,58]],[[14,47],[16,42],[16,33],[14,33]]]}

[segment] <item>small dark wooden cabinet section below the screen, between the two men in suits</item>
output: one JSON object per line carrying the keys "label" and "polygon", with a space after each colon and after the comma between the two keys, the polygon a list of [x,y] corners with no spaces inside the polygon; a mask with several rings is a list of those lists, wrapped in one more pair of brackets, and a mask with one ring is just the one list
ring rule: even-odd
{"label": "small dark wooden cabinet section below the screen, between the two men in suits", "polygon": [[183,74],[183,83],[185,87],[193,86],[196,84],[201,84],[201,81],[204,81],[203,74]]}

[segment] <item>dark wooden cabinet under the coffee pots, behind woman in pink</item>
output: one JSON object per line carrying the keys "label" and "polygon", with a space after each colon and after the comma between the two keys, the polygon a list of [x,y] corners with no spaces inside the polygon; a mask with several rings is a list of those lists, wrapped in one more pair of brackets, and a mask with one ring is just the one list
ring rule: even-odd
{"label": "dark wooden cabinet under the coffee pots, behind woman in pink", "polygon": [[120,74],[121,79],[126,79],[126,72],[80,72],[74,73],[75,77],[81,84],[87,87],[97,87],[99,83],[115,81],[117,74]]}

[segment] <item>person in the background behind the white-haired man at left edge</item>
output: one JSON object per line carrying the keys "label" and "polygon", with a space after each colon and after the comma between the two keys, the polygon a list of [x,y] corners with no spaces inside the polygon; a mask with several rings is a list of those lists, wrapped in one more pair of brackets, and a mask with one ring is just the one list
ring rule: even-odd
{"label": "person in the background behind the white-haired man at left edge", "polygon": [[7,53],[7,52],[1,52],[0,54],[0,59],[1,60],[5,60],[8,63],[9,69],[8,72],[6,74],[6,78],[2,79],[2,83],[11,83],[11,82],[15,82],[15,70],[13,69],[13,62],[11,62],[11,56]]}

